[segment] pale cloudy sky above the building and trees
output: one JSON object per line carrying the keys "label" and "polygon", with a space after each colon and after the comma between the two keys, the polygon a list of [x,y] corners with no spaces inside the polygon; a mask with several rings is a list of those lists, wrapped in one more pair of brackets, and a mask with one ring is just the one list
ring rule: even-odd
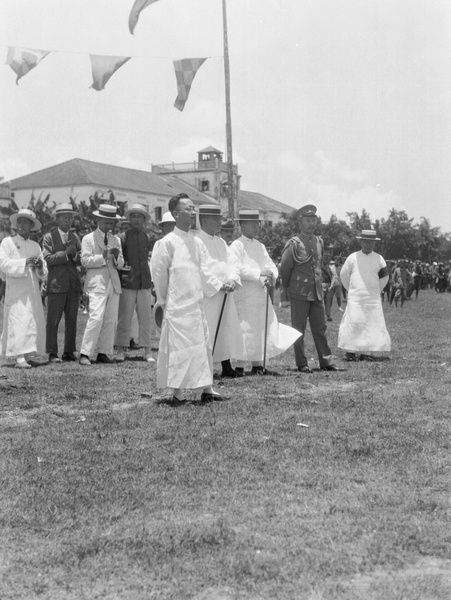
{"label": "pale cloudy sky above the building and trees", "polygon": [[[148,170],[226,150],[221,0],[1,0],[0,176],[71,158]],[[390,208],[451,231],[451,2],[228,0],[233,158],[242,189],[331,214]],[[92,83],[88,54],[134,56]],[[185,110],[172,60],[209,57]],[[2,61],[3,62],[3,61]]]}

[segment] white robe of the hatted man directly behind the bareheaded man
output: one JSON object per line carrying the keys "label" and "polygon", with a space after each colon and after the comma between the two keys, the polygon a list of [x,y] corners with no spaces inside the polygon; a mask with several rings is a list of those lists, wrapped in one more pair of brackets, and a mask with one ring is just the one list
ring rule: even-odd
{"label": "white robe of the hatted man directly behind the bareheaded man", "polygon": [[[224,284],[233,280],[240,283],[240,267],[232,260],[229,247],[225,241],[217,235],[209,235],[200,230],[196,236],[204,243],[207,249],[207,267],[219,281]],[[235,289],[237,289],[237,287]],[[213,362],[223,360],[244,360],[243,334],[241,333],[240,321],[235,306],[235,291],[225,293],[219,291],[210,298],[205,298],[204,308],[207,317],[208,330],[210,332],[210,345],[213,349]],[[225,302],[224,298],[227,296]],[[218,330],[219,317],[222,311],[221,323]],[[215,345],[216,331],[218,336]]]}

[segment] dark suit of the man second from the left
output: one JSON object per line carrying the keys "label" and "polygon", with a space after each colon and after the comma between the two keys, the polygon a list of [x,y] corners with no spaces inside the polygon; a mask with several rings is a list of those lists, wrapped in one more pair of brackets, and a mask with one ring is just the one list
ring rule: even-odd
{"label": "dark suit of the man second from the left", "polygon": [[[75,246],[75,256],[67,256],[68,246]],[[64,313],[64,352],[75,352],[81,294],[81,279],[77,269],[77,265],[81,264],[80,239],[70,231],[67,244],[64,244],[58,229],[54,229],[45,234],[42,249],[49,270],[46,351],[49,354],[58,354],[58,326]]]}

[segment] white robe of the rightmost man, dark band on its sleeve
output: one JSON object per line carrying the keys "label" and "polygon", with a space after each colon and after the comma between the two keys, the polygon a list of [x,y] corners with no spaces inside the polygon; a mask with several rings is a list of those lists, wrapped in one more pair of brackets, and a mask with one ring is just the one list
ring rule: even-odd
{"label": "white robe of the rightmost man, dark band on its sleeve", "polygon": [[385,326],[381,291],[388,275],[379,278],[386,268],[380,254],[361,250],[346,259],[340,279],[348,290],[348,302],[338,332],[338,347],[347,352],[388,352],[390,335]]}

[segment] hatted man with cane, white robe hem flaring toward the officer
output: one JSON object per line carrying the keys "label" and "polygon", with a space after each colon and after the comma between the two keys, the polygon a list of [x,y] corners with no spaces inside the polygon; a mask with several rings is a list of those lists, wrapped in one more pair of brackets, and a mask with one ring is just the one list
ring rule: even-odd
{"label": "hatted man with cane, white robe hem flaring toward the officer", "polygon": [[242,235],[230,245],[230,254],[240,265],[242,287],[236,289],[234,298],[245,359],[237,362],[235,370],[244,373],[245,362],[252,362],[251,375],[274,374],[266,369],[266,359],[285,352],[301,333],[278,322],[268,297],[278,270],[265,246],[255,239],[260,228],[258,210],[240,210],[239,222]]}

